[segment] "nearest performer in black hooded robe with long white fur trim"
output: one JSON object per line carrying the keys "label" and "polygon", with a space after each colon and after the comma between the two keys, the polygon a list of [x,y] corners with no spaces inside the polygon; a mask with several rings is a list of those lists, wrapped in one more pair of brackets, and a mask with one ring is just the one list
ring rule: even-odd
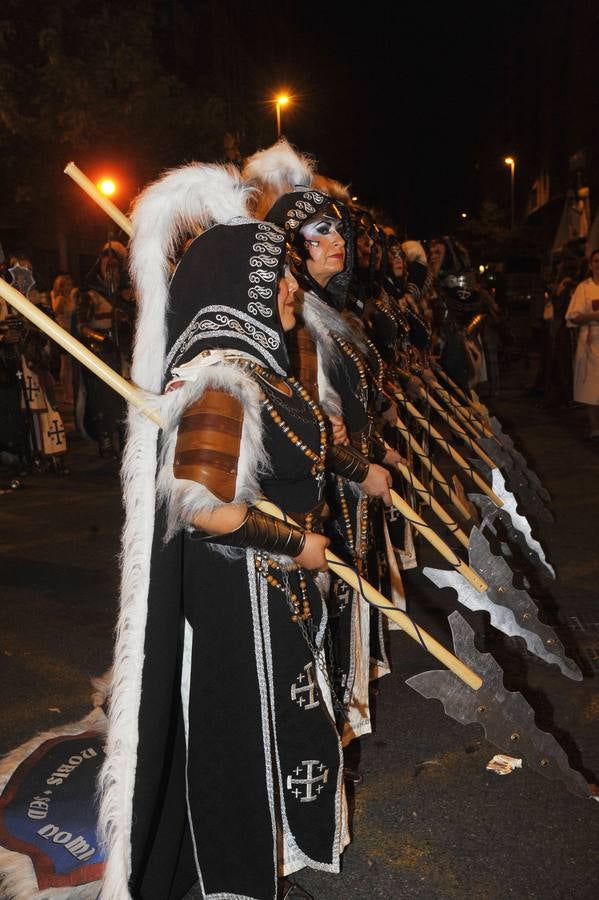
{"label": "nearest performer in black hooded robe with long white fur trim", "polygon": [[[325,464],[356,460],[287,374],[285,235],[246,218],[247,193],[235,170],[191,165],[133,212],[132,376],[163,429],[131,413],[101,780],[111,900],[196,882],[209,898],[306,896],[280,876],[338,871],[348,841],[309,570],[326,565]],[[263,516],[261,495],[312,533]]]}

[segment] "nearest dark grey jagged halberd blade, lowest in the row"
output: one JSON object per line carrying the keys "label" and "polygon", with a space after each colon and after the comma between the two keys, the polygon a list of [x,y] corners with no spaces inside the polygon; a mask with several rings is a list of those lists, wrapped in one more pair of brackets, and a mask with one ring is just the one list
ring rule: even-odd
{"label": "nearest dark grey jagged halberd blade, lowest in the row", "polygon": [[490,653],[480,653],[474,631],[458,612],[449,616],[455,653],[483,679],[478,691],[447,669],[422,672],[406,684],[426,697],[440,700],[448,716],[467,725],[482,725],[487,740],[511,756],[521,756],[531,769],[551,781],[561,781],[577,797],[591,797],[590,788],[572,769],[553,735],[535,725],[534,712],[522,694],[508,691],[503,670]]}

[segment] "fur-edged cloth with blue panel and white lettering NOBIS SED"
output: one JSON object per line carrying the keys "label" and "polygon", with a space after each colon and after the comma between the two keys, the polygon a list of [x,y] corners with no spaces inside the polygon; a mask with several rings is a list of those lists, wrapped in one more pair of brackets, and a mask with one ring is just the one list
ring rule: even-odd
{"label": "fur-edged cloth with blue panel and white lettering NOBIS SED", "polygon": [[0,895],[95,898],[103,856],[96,780],[106,717],[38,735],[0,766]]}

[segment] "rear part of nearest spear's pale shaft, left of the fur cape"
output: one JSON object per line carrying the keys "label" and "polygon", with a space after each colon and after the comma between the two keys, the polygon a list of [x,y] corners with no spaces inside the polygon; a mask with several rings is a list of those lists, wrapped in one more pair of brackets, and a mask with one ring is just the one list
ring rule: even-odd
{"label": "rear part of nearest spear's pale shaft, left of the fur cape", "polygon": [[25,316],[26,319],[33,322],[40,331],[43,331],[44,334],[47,334],[48,337],[56,341],[57,344],[60,344],[64,350],[74,356],[82,365],[86,366],[90,372],[97,375],[98,378],[116,391],[117,394],[120,394],[127,403],[131,403],[145,416],[157,425],[160,425],[158,413],[155,409],[148,406],[144,394],[138,388],[128,381],[125,381],[118,372],[115,372],[114,369],[107,366],[103,360],[95,356],[91,350],[88,350],[87,347],[81,343],[81,341],[78,341],[72,334],[69,334],[68,331],[61,328],[57,322],[50,318],[50,316],[47,316],[41,309],[38,309],[31,300],[28,300],[20,291],[17,291],[12,285],[7,284],[2,278],[0,278],[0,297],[3,297],[7,303],[20,312],[21,315]]}

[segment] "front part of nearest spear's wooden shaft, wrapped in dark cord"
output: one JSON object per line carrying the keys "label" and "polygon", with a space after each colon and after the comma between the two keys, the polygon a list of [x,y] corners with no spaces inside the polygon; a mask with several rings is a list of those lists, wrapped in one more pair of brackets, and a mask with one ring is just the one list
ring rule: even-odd
{"label": "front part of nearest spear's wooden shaft, wrapped in dark cord", "polygon": [[[256,506],[269,516],[273,516],[276,519],[282,519],[290,524],[295,524],[292,519],[279,509],[278,506],[275,506],[274,503],[270,503],[268,500],[260,500]],[[454,654],[447,650],[443,644],[436,641],[432,635],[415,625],[406,613],[397,609],[397,607],[380,594],[376,588],[367,581],[364,581],[363,578],[360,578],[357,572],[348,568],[338,556],[335,556],[330,550],[325,550],[325,556],[331,571],[335,572],[339,578],[343,579],[343,581],[354,588],[354,590],[358,591],[358,593],[363,594],[369,603],[372,603],[373,606],[380,609],[389,619],[393,622],[397,622],[409,637],[432,654],[435,659],[438,659],[439,662],[443,663],[444,666],[465,682],[468,687],[477,691],[482,686],[483,681],[480,675],[477,675],[476,672],[469,669],[461,659],[454,656]]]}

